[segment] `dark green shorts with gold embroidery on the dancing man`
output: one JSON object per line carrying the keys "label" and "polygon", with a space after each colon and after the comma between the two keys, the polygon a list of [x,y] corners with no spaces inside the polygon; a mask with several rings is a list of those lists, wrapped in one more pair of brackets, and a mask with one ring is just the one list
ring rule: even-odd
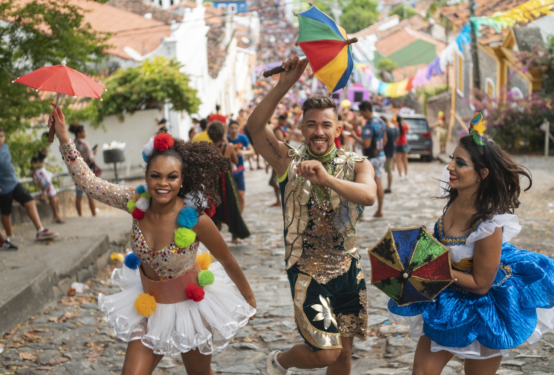
{"label": "dark green shorts with gold embroidery on the dancing man", "polygon": [[357,260],[348,272],[320,284],[296,265],[286,271],[298,332],[313,351],[342,348],[342,337],[367,339],[366,281]]}

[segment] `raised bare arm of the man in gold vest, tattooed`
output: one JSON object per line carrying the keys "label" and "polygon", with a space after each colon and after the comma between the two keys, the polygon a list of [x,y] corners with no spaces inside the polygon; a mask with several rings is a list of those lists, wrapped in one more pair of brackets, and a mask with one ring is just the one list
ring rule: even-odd
{"label": "raised bare arm of the man in gold vest, tattooed", "polygon": [[281,73],[279,82],[254,108],[247,121],[247,128],[252,136],[254,146],[275,169],[278,176],[283,175],[289,166],[289,147],[277,140],[273,130],[268,126],[268,121],[275,113],[281,99],[300,78],[306,65],[307,60],[300,60],[299,57],[285,60],[281,66],[287,70]]}

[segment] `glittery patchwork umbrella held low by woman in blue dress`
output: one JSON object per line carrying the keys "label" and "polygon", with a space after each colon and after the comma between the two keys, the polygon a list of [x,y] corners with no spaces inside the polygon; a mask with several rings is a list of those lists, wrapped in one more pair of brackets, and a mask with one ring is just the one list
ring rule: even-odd
{"label": "glittery patchwork umbrella held low by woman in blue dress", "polygon": [[398,306],[432,301],[454,281],[450,251],[424,226],[389,229],[368,252],[371,283]]}

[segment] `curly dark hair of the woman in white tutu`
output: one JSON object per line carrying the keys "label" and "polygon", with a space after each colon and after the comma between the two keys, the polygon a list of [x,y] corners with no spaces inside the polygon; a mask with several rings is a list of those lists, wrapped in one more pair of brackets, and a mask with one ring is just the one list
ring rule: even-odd
{"label": "curly dark hair of the woman in white tutu", "polygon": [[[161,132],[158,132],[161,133]],[[181,162],[181,175],[183,176],[183,187],[177,196],[184,198],[192,193],[196,198],[196,212],[199,214],[204,210],[199,199],[198,192],[202,192],[208,202],[214,206],[221,203],[221,198],[216,189],[216,180],[227,171],[229,162],[227,158],[220,155],[209,142],[186,142],[181,138],[173,138],[175,143],[171,148],[160,151],[154,150],[148,157],[146,172],[150,169],[153,160],[158,156],[170,156]]]}

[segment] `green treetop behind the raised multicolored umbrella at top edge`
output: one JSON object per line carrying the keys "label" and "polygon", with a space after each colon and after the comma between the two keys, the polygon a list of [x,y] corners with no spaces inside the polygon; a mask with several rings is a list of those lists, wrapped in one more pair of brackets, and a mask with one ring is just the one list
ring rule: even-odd
{"label": "green treetop behind the raised multicolored umbrella at top edge", "polygon": [[[333,14],[328,3],[316,0],[315,5],[332,17]],[[348,34],[356,33],[371,26],[377,22],[377,17],[379,17],[378,4],[375,0],[352,0],[347,7],[342,9],[341,26]]]}

